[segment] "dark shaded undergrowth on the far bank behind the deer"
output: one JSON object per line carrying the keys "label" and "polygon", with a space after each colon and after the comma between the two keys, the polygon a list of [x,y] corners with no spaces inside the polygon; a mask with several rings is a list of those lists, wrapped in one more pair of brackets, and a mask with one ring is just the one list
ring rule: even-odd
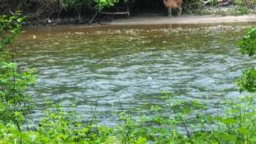
{"label": "dark shaded undergrowth on the far bank behind the deer", "polygon": [[[256,0],[184,0],[184,12],[200,10],[205,6],[222,6],[222,4],[252,5]],[[87,18],[88,23],[95,12],[116,12],[114,7],[129,7],[129,14],[138,15],[144,12],[162,13],[165,7],[162,0],[0,0],[0,13],[10,14],[21,10],[29,16],[30,21],[45,18],[57,20],[58,18]],[[108,15],[103,15],[108,17]]]}

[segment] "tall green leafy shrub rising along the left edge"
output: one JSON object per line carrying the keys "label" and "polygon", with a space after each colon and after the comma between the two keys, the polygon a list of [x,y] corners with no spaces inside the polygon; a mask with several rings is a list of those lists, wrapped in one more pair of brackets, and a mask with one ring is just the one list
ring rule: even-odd
{"label": "tall green leafy shrub rising along the left edge", "polygon": [[[26,88],[34,81],[32,70],[18,72],[11,45],[13,39],[20,34],[24,19],[20,12],[0,16],[0,121],[3,124],[15,124],[19,131],[31,110],[31,98],[25,93]],[[10,53],[7,48],[11,50]],[[6,58],[10,58],[11,62]]]}

